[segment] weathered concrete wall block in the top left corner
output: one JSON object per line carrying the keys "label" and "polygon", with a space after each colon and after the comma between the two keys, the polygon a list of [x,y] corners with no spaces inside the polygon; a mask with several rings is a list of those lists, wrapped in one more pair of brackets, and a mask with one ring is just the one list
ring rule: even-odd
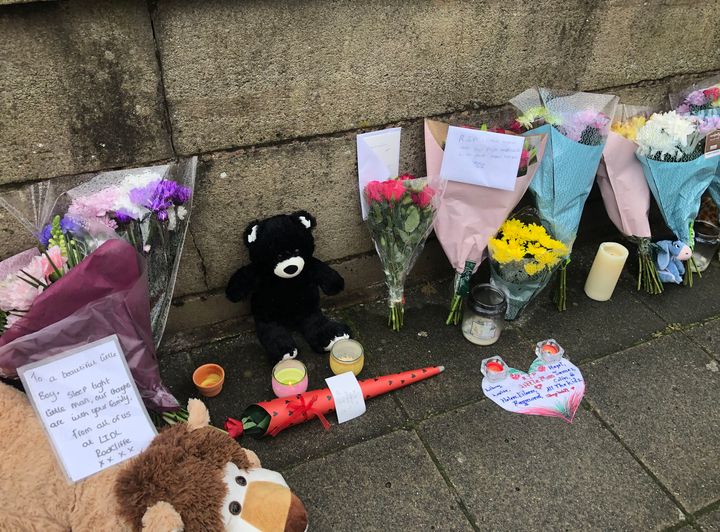
{"label": "weathered concrete wall block in the top left corner", "polygon": [[147,4],[0,7],[0,184],[170,157]]}

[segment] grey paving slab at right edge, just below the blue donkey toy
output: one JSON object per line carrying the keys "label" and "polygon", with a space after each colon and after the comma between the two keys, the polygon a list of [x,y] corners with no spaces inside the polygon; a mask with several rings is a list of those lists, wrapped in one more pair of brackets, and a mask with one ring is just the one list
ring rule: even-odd
{"label": "grey paving slab at right edge, just below the blue donkey toy", "polygon": [[638,293],[637,298],[650,306],[669,323],[695,323],[720,316],[720,263],[713,261],[695,278],[693,287],[666,284],[659,296]]}

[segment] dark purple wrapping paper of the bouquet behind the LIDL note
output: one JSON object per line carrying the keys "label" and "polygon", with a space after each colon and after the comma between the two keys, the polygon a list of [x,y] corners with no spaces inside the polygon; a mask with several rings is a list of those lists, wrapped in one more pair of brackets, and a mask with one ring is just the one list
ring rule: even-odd
{"label": "dark purple wrapping paper of the bouquet behind the LIDL note", "polygon": [[116,334],[148,408],[179,407],[160,380],[147,269],[135,249],[109,240],[41,293],[0,336],[0,374]]}

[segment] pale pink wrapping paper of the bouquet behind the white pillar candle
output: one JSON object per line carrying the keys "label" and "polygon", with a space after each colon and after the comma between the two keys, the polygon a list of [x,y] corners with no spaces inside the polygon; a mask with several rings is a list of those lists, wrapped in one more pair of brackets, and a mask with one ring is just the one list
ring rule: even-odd
{"label": "pale pink wrapping paper of the bouquet behind the white pillar candle", "polygon": [[636,144],[612,131],[608,134],[597,183],[608,216],[625,236],[650,238],[650,189]]}

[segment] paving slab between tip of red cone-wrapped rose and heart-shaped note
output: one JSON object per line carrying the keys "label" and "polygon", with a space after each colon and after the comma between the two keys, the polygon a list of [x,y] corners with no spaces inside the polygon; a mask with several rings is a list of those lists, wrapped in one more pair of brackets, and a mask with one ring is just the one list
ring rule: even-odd
{"label": "paving slab between tip of red cone-wrapped rose and heart-shaped note", "polygon": [[445,366],[446,371],[441,375],[396,392],[413,419],[482,399],[480,362],[483,358],[499,354],[508,364],[521,369],[535,358],[534,344],[512,327],[503,331],[497,343],[482,347],[465,340],[459,327],[445,325],[450,285],[446,282],[426,287],[426,294],[422,290],[408,291],[405,325],[400,332],[392,332],[387,327],[385,301],[341,311],[357,331],[367,358],[376,360],[383,373]]}

